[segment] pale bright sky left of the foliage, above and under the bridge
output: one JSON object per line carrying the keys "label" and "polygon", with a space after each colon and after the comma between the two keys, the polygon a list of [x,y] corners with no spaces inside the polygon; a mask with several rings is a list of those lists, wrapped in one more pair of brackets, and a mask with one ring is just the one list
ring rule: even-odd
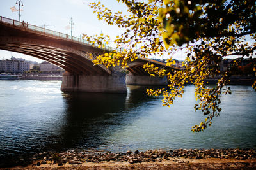
{"label": "pale bright sky left of the foliage, above and under the bridge", "polygon": [[[102,4],[113,11],[126,11],[126,7],[116,0],[100,0]],[[99,21],[97,14],[93,13],[93,9],[88,6],[90,0],[22,0],[23,11],[21,12],[21,21],[28,24],[42,26],[54,31],[70,34],[70,29],[66,29],[72,17],[74,25],[72,35],[80,37],[81,34],[93,36],[100,34],[108,34],[115,38],[122,33],[122,29],[115,25],[108,25],[103,21]],[[96,1],[97,2],[97,1]],[[18,2],[19,4],[19,2]],[[12,12],[11,7],[16,5],[16,0],[0,0],[0,15],[19,21],[19,12]],[[42,62],[42,60],[21,53],[0,50],[0,59],[10,59],[10,57],[24,58],[26,60],[34,60]]]}

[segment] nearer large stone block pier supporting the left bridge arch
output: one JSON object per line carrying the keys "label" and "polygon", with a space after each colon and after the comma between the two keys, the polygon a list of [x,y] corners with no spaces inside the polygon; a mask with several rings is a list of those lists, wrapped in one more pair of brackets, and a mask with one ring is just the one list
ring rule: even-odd
{"label": "nearer large stone block pier supporting the left bridge arch", "polygon": [[63,73],[61,91],[127,93],[125,75],[86,76],[67,71]]}

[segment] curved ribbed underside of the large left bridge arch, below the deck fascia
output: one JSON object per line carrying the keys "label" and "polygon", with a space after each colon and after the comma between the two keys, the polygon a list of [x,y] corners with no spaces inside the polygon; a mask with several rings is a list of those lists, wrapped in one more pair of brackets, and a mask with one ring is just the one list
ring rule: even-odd
{"label": "curved ribbed underside of the large left bridge arch, below the deck fascia", "polygon": [[[46,60],[70,73],[85,75],[111,74],[111,71],[102,65],[93,66],[90,53],[44,39],[0,36],[0,49],[24,53]],[[95,53],[93,55],[95,56]]]}

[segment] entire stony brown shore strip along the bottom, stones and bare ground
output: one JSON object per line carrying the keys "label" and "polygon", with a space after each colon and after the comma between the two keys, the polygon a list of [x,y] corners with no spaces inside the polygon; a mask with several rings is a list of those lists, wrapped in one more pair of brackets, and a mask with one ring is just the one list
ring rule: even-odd
{"label": "entire stony brown shore strip along the bottom, stones and bare ground", "polygon": [[[3,167],[2,165],[1,167]],[[173,167],[175,166],[175,167]],[[171,167],[195,169],[212,167],[240,167],[239,169],[256,169],[255,149],[177,149],[177,150],[138,150],[126,153],[87,153],[67,150],[65,152],[36,153],[31,158],[20,158],[5,167],[41,169],[71,168],[76,169],[169,169]],[[210,168],[211,169],[211,168]],[[230,168],[228,168],[230,169]]]}

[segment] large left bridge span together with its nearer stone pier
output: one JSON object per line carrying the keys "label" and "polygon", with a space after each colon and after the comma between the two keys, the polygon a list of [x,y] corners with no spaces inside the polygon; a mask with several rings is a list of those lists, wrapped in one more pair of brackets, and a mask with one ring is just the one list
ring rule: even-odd
{"label": "large left bridge span together with its nearer stone pier", "polygon": [[104,53],[104,49],[65,36],[38,32],[31,25],[1,22],[0,49],[30,55],[65,69],[61,84],[64,92],[127,92],[124,74],[117,75],[116,71],[112,73],[102,65],[93,64],[93,57]]}

